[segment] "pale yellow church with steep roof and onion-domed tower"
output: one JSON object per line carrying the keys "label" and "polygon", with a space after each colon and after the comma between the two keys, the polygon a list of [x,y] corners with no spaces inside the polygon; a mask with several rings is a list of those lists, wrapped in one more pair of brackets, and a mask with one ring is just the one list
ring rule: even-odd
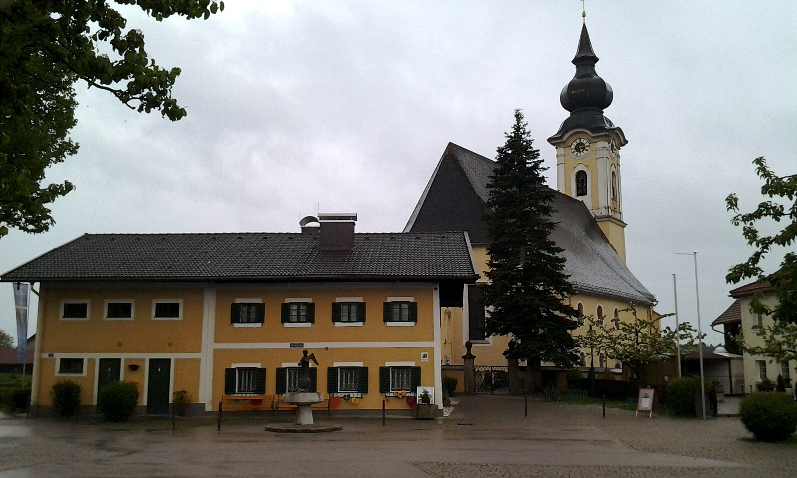
{"label": "pale yellow church with steep roof and onion-domed tower", "polygon": [[[622,130],[603,116],[613,93],[595,72],[597,61],[584,25],[572,61],[575,76],[560,95],[563,108],[571,115],[548,139],[556,147],[558,186],[551,217],[558,224],[551,239],[564,249],[567,263],[563,272],[577,291],[567,298],[573,308],[584,315],[616,321],[630,319],[630,314],[620,311],[634,303],[638,313],[655,318],[654,296],[625,263],[619,150],[627,141]],[[494,167],[492,159],[449,143],[404,229],[467,231],[481,284],[487,282],[488,237],[483,217],[490,214],[487,184]],[[442,311],[442,354],[446,364],[461,365],[464,344],[469,340],[477,365],[505,366],[508,337],[485,337],[481,330],[485,310],[475,305],[478,283],[469,287],[469,300],[463,308]],[[579,335],[586,332],[586,326],[574,331]],[[599,370],[622,366],[611,358],[592,357],[590,351],[583,355],[585,367],[593,360]]]}

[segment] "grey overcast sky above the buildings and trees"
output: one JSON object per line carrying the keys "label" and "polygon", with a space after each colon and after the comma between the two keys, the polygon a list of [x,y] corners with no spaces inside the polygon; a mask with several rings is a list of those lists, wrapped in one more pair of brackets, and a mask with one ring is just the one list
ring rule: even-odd
{"label": "grey overcast sky above the buildings and trees", "polygon": [[[0,272],[82,233],[298,232],[319,210],[400,231],[446,144],[494,158],[514,108],[556,187],[546,139],[568,114],[577,0],[231,0],[210,20],[162,23],[123,11],[159,65],[183,69],[174,95],[188,116],[132,112],[79,84],[80,151],[49,173],[77,189],[53,205],[48,233],[0,240]],[[725,273],[752,252],[724,198],[760,201],[757,156],[795,173],[795,21],[786,1],[587,1],[614,89],[605,114],[629,140],[628,265],[662,313],[677,274],[679,315],[697,326],[693,258],[675,254],[697,250],[705,331],[732,302]],[[0,329],[16,335],[10,284]]]}

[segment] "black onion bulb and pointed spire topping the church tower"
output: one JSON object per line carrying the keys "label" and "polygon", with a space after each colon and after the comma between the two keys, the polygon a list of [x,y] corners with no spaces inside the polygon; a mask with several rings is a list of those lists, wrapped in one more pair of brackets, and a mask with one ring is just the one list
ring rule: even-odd
{"label": "black onion bulb and pointed spire topping the church tower", "polygon": [[611,104],[614,96],[611,86],[595,72],[595,63],[598,63],[598,60],[592,51],[590,35],[585,24],[581,27],[579,49],[572,61],[575,65],[575,76],[559,95],[562,107],[568,112],[581,108],[603,110]]}

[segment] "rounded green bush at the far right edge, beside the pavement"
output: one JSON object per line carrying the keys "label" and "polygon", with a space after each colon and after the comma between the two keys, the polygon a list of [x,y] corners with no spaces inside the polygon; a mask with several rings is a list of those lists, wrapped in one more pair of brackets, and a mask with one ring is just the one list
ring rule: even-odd
{"label": "rounded green bush at the far right edge, beside the pavement", "polygon": [[797,405],[786,395],[750,394],[739,405],[739,418],[756,440],[786,440],[797,430]]}

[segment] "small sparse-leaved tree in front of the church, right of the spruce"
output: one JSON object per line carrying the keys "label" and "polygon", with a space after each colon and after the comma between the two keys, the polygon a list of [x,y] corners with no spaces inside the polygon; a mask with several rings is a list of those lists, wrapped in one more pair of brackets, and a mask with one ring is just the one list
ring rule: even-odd
{"label": "small sparse-leaved tree in front of the church, right of the spruce", "polygon": [[647,313],[640,315],[634,304],[619,312],[626,317],[630,315],[630,319],[607,323],[604,317],[586,316],[584,319],[589,329],[587,334],[579,337],[579,345],[607,359],[619,360],[636,375],[642,366],[676,355],[679,343],[683,348],[697,339],[697,330],[689,322],[680,323],[675,329],[665,327],[662,330],[660,320],[672,314],[660,317]]}

